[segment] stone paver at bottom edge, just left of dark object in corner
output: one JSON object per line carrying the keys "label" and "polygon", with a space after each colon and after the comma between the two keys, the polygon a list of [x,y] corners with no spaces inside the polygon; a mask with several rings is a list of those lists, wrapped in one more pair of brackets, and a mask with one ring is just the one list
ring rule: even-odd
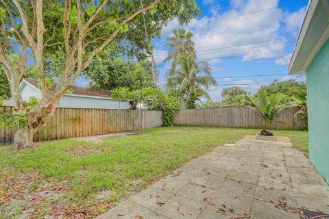
{"label": "stone paver at bottom edge, just left of dark object in corner", "polygon": [[300,214],[278,209],[275,205],[264,201],[254,199],[252,203],[252,211],[250,211],[253,219],[300,219]]}

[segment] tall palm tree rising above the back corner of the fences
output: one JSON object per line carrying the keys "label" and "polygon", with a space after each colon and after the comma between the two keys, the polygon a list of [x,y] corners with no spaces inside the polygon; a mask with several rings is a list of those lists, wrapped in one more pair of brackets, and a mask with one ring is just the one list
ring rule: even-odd
{"label": "tall palm tree rising above the back corner of the fences", "polygon": [[210,99],[206,89],[209,86],[217,86],[217,81],[211,75],[211,68],[208,62],[196,62],[195,51],[186,55],[180,55],[178,57],[178,64],[180,68],[178,70],[178,77],[173,78],[173,81],[179,82],[179,91],[185,95],[184,105],[188,107],[188,101],[191,98],[191,94],[199,96],[206,96],[206,99]]}

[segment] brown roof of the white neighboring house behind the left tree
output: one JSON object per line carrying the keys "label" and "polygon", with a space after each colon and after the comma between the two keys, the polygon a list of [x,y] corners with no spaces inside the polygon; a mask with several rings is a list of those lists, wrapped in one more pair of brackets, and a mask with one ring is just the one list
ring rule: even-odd
{"label": "brown roof of the white neighboring house behind the left tree", "polygon": [[[38,81],[35,79],[23,79],[23,81],[27,81],[27,83],[38,88]],[[53,83],[50,90],[55,90],[56,86],[57,83]],[[68,89],[72,90],[72,94],[77,96],[97,96],[110,98],[110,91],[108,90],[97,90],[93,88],[82,88],[78,86],[69,86]]]}

